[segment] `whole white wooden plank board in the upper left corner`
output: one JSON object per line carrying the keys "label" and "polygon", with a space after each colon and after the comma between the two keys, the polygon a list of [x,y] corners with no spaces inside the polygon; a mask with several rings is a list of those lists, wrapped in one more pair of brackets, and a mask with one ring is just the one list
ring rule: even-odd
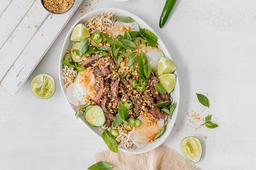
{"label": "whole white wooden plank board in the upper left corner", "polygon": [[0,86],[17,93],[82,2],[54,15],[39,0],[1,1]]}

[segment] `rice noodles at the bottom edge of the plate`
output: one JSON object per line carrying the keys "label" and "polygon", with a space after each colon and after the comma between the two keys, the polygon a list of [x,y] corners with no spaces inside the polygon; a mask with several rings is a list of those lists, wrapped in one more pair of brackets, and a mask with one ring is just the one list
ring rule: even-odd
{"label": "rice noodles at the bottom edge of the plate", "polygon": [[[102,129],[111,130],[111,128],[108,128],[106,125],[102,126]],[[131,140],[132,131],[125,130],[123,128],[123,125],[118,126],[116,129],[119,132],[119,135],[116,138],[116,140],[118,142],[118,147],[124,147],[126,149],[134,150],[134,148],[136,148],[136,145],[134,145]]]}

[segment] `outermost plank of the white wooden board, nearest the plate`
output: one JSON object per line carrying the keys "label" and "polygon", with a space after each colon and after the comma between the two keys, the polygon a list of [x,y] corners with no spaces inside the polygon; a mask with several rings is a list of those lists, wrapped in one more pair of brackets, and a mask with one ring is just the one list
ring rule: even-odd
{"label": "outermost plank of the white wooden board, nearest the plate", "polygon": [[[52,42],[56,39],[60,31],[68,22],[72,14],[76,11],[82,1],[76,1],[73,8],[62,15],[48,15],[33,38],[28,42],[17,60],[6,73],[1,86],[12,94],[17,93],[18,89],[28,79],[32,70],[37,66],[43,55],[48,51]],[[52,24],[59,23],[59,26],[52,27]]]}

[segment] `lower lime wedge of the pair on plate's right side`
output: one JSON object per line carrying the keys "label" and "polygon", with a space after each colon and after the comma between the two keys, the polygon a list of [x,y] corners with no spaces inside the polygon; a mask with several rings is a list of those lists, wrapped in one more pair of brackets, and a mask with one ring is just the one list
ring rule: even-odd
{"label": "lower lime wedge of the pair on plate's right side", "polygon": [[[159,74],[159,73],[158,73]],[[176,84],[176,75],[175,74],[163,74],[159,77],[160,84],[165,88],[167,93],[171,93]]]}

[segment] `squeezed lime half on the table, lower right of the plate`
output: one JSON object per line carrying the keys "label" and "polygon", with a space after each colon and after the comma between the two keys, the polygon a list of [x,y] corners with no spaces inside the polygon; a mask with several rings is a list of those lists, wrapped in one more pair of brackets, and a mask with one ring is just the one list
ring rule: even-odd
{"label": "squeezed lime half on the table, lower right of the plate", "polygon": [[181,141],[180,148],[187,159],[197,163],[201,159],[202,146],[196,137],[187,137]]}

